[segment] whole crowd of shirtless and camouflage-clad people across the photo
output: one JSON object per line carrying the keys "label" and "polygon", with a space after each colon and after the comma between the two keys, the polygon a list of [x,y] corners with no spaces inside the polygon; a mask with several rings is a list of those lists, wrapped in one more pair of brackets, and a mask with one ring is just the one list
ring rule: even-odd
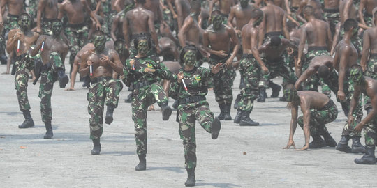
{"label": "whole crowd of shirtless and camouflage-clad people across the photo", "polygon": [[[250,118],[254,100],[265,102],[268,88],[270,97],[278,97],[283,87],[280,100],[292,113],[285,148],[295,147],[298,123],[305,136],[299,150],[336,147],[364,153],[357,164],[376,163],[377,0],[0,0],[0,7],[0,61],[7,64],[5,74],[15,75],[25,118],[19,128],[34,126],[27,97],[31,74],[33,84],[40,79],[45,139],[53,136],[54,82],[65,88],[69,81],[64,66],[69,52],[66,90],[75,89],[77,72],[89,88],[92,155],[101,152],[105,105],[110,124],[126,85],[140,160],[135,170],[145,170],[148,107],[157,102],[163,120],[169,120],[172,97],[184,143],[185,185],[194,186],[195,120],[212,139],[221,120],[257,126]],[[204,62],[209,69],[201,67]],[[232,118],[237,72],[241,91]],[[274,84],[276,77],[283,78],[282,86]],[[209,111],[208,88],[219,104],[218,116]],[[348,117],[339,143],[325,126],[338,115],[331,91]]]}

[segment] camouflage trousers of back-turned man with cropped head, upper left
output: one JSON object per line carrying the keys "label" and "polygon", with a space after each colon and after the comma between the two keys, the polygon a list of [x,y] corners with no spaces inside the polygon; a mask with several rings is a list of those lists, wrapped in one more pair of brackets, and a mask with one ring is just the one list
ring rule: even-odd
{"label": "camouflage trousers of back-turned man with cropped head, upper left", "polygon": [[64,29],[64,33],[68,38],[68,47],[71,56],[69,56],[69,64],[73,65],[77,52],[80,51],[84,45],[87,45],[89,29],[85,23],[70,25],[68,24]]}

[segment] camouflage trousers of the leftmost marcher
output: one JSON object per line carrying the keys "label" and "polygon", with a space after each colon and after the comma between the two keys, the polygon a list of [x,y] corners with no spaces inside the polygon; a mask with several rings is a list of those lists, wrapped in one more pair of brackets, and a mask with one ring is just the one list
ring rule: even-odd
{"label": "camouflage trousers of the leftmost marcher", "polygon": [[[17,57],[16,57],[17,58]],[[27,82],[29,81],[29,72],[34,68],[34,61],[29,56],[25,56],[20,61],[15,62],[15,89],[17,94],[20,111],[29,111],[30,104],[27,97]]]}

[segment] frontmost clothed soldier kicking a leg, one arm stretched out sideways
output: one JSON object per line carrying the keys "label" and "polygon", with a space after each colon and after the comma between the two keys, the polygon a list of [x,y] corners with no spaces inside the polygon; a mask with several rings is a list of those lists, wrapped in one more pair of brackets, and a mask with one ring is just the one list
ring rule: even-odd
{"label": "frontmost clothed soldier kicking a leg, one arm stretched out sideways", "polygon": [[184,167],[187,171],[186,187],[195,186],[196,139],[195,120],[205,131],[211,133],[212,139],[217,139],[221,129],[219,118],[209,110],[205,99],[207,95],[207,80],[222,69],[221,64],[212,66],[211,70],[195,67],[200,52],[194,45],[186,45],[179,55],[179,61],[184,62],[184,68],[174,75],[170,84],[170,96],[178,100],[179,135],[184,145]]}

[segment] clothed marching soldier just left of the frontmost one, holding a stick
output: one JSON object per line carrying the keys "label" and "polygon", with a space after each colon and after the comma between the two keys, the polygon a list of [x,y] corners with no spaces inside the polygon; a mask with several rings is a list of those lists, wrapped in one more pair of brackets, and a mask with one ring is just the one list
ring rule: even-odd
{"label": "clothed marching soldier just left of the frontmost one, holding a stick", "polygon": [[169,120],[172,109],[168,106],[168,97],[163,86],[159,84],[161,79],[171,79],[172,73],[161,63],[153,61],[147,55],[151,49],[151,41],[146,34],[140,34],[133,40],[138,54],[134,58],[128,58],[124,64],[124,83],[133,86],[132,95],[132,120],[135,123],[136,153],[140,163],[135,167],[136,171],[145,171],[147,161],[147,107],[155,102],[162,109],[163,120]]}

